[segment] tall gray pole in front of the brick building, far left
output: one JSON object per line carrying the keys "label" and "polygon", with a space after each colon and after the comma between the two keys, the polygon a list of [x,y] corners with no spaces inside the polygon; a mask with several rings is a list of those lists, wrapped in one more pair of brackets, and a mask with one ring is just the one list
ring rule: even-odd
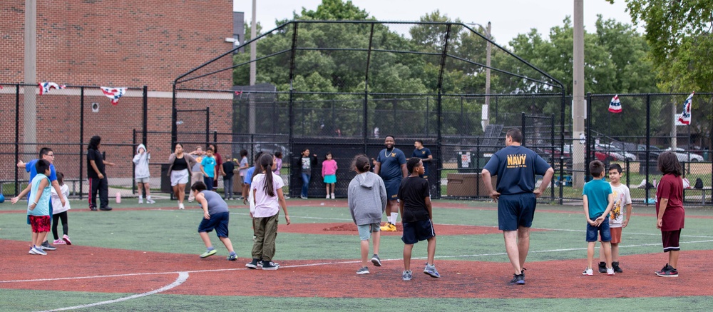
{"label": "tall gray pole in front of the brick building, far left", "polygon": [[[24,152],[27,153],[26,161],[35,158],[37,146],[37,1],[25,0],[25,63],[24,63],[25,84],[31,86],[24,87],[24,122],[23,135]],[[19,90],[18,90],[19,91]]]}

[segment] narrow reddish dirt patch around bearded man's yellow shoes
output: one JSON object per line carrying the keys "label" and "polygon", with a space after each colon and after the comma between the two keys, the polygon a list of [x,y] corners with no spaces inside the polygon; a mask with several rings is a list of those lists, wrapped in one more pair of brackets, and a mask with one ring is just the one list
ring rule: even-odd
{"label": "narrow reddish dirt patch around bearded man's yellow shoes", "polygon": [[[401,236],[401,223],[396,224],[396,232],[381,231],[381,235]],[[354,223],[292,223],[289,226],[278,225],[278,232],[284,233],[305,233],[305,234],[327,234],[327,235],[359,235]],[[434,231],[438,236],[451,235],[481,235],[481,234],[501,234],[497,226],[452,226],[448,224],[434,224]],[[547,231],[532,228],[530,231]]]}

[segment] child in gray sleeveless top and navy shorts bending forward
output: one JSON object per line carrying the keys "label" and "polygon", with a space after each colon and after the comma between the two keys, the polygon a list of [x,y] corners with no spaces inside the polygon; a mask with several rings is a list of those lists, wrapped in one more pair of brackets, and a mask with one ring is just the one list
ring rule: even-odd
{"label": "child in gray sleeveless top and navy shorts bending forward", "polygon": [[228,234],[228,221],[230,221],[230,213],[227,210],[227,203],[220,197],[219,193],[214,191],[207,191],[205,183],[198,181],[193,183],[190,187],[191,193],[195,196],[195,201],[200,203],[200,207],[203,208],[203,220],[200,221],[198,226],[198,234],[200,238],[205,243],[207,250],[205,253],[200,255],[200,258],[207,258],[215,255],[217,251],[213,248],[212,243],[210,243],[210,237],[208,237],[208,232],[215,229],[220,241],[222,241],[227,251],[230,251],[230,255],[227,259],[230,261],[237,260],[237,254],[232,250],[232,242],[230,238],[227,238]]}

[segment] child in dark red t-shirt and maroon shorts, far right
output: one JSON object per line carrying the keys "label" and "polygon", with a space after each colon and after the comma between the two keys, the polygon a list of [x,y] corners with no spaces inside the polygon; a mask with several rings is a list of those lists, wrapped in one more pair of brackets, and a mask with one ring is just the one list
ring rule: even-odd
{"label": "child in dark red t-shirt and maroon shorts, far right", "polygon": [[656,271],[657,276],[678,276],[678,255],[681,251],[679,238],[686,211],[683,208],[683,180],[681,163],[670,151],[659,155],[659,171],[664,174],[656,188],[656,227],[661,230],[664,252],[669,253],[669,262]]}

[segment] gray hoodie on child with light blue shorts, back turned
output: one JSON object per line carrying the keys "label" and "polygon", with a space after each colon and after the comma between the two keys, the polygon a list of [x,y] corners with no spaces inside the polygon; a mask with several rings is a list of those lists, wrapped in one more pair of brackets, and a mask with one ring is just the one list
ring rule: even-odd
{"label": "gray hoodie on child with light blue shorts, back turned", "polygon": [[349,212],[356,225],[380,223],[386,202],[386,188],[379,175],[359,173],[349,182]]}

